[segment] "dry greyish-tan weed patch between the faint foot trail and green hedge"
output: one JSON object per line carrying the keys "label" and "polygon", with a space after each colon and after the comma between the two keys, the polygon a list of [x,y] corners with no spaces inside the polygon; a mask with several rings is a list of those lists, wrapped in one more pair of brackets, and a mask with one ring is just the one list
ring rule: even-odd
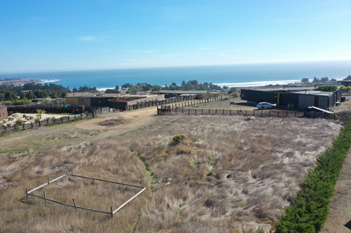
{"label": "dry greyish-tan weed patch between the faint foot trail and green hedge", "polygon": [[[157,183],[137,232],[232,232],[279,218],[340,130],[322,119],[163,119],[131,144]],[[186,141],[172,143],[176,134]]]}

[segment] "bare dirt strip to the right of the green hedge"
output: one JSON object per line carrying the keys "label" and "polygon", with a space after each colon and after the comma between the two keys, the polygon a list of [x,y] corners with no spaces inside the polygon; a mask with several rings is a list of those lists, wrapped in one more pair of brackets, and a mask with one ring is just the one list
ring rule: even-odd
{"label": "bare dirt strip to the right of the green hedge", "polygon": [[329,205],[328,220],[321,232],[351,232],[351,150],[336,182],[334,196]]}

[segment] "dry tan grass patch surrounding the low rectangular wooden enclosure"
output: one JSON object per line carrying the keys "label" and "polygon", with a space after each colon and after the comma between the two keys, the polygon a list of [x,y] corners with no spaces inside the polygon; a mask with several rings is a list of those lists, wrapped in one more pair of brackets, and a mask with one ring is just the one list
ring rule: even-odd
{"label": "dry tan grass patch surrounding the low rectangular wooden enclosure", "polygon": [[[47,148],[39,154],[0,157],[0,229],[4,232],[131,232],[140,206],[150,197],[147,189],[114,216],[90,211],[76,211],[35,197],[25,197],[25,188],[34,188],[62,175],[65,168],[72,174],[94,176],[143,186],[150,180],[142,162],[128,149],[130,139],[116,137],[75,146]],[[62,178],[45,188],[48,198],[69,204],[74,198],[79,206],[108,211],[135,195],[135,188],[116,187],[108,183]],[[43,189],[34,191],[43,195]]]}

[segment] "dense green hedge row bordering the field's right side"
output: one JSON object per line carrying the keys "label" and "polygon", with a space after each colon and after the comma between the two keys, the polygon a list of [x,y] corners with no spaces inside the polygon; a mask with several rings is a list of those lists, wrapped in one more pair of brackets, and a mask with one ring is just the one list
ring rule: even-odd
{"label": "dense green hedge row bordering the field's right side", "polygon": [[308,171],[305,182],[291,206],[284,209],[276,232],[319,232],[329,213],[334,185],[338,181],[347,151],[351,146],[351,116],[331,148],[317,160],[314,170]]}

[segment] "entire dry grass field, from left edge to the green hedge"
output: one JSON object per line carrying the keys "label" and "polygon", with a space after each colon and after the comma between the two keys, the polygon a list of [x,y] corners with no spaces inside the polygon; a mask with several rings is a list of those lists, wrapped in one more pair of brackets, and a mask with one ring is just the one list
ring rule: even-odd
{"label": "entire dry grass field, from left edge to the green hedge", "polygon": [[[105,119],[100,119],[0,137],[0,231],[240,232],[241,225],[267,227],[265,222],[279,218],[279,209],[289,205],[307,169],[340,129],[338,122],[322,119],[124,114],[114,127],[101,126]],[[176,134],[187,139],[173,143]],[[72,174],[145,183],[147,190],[114,218],[25,197],[25,188],[58,177],[65,168]],[[72,177],[45,190],[49,198],[69,204],[74,198],[79,206],[104,211],[111,205],[117,209],[128,194],[138,192]]]}

